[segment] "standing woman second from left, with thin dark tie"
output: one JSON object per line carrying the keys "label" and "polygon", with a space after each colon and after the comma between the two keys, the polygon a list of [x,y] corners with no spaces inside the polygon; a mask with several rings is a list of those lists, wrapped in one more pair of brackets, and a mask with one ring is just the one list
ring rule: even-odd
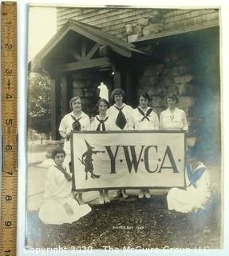
{"label": "standing woman second from left, with thin dark tie", "polygon": [[[109,108],[109,102],[105,98],[101,98],[97,102],[97,108],[99,114],[97,114],[93,119],[91,123],[91,129],[92,130],[111,130],[110,125],[110,118],[107,115],[107,110]],[[110,202],[109,190],[99,190],[100,193],[100,203],[104,204],[105,202]]]}

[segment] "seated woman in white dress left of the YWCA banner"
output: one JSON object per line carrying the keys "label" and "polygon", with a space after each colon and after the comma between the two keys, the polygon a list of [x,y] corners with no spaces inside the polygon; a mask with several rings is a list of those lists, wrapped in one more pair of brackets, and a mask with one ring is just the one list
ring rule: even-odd
{"label": "seated woman in white dress left of the YWCA banner", "polygon": [[45,202],[38,216],[45,224],[61,225],[76,222],[91,211],[88,205],[79,205],[72,197],[72,175],[63,166],[65,150],[53,150],[53,166],[47,171]]}

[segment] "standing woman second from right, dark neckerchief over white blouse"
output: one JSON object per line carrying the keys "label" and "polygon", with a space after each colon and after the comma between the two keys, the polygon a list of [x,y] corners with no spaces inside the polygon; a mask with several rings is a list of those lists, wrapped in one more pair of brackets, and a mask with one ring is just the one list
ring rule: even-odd
{"label": "standing woman second from right, dark neckerchief over white blouse", "polygon": [[[148,106],[150,97],[147,92],[140,94],[139,106],[132,110],[130,126],[133,130],[158,130],[159,120],[152,108]],[[150,192],[147,189],[141,189],[139,198],[150,198]]]}

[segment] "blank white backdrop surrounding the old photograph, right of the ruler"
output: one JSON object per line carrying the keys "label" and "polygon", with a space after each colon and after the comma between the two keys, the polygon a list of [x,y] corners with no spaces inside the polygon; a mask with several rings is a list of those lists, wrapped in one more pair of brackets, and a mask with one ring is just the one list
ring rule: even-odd
{"label": "blank white backdrop surrounding the old photograph, right of the ruler", "polygon": [[[50,250],[39,252],[25,250],[25,237],[26,237],[26,84],[27,84],[27,21],[28,21],[28,4],[32,3],[36,6],[45,5],[45,6],[132,6],[133,2],[129,0],[78,0],[78,1],[59,1],[59,0],[49,0],[49,1],[34,1],[34,0],[18,0],[18,134],[19,134],[19,145],[18,145],[18,256],[24,255],[106,255],[109,254],[109,251],[106,250],[93,250],[90,251],[66,251],[57,254],[57,251],[53,251],[51,253]],[[228,56],[229,56],[229,38],[228,38],[228,24],[229,24],[229,2],[227,1],[216,1],[216,0],[192,0],[192,1],[182,1],[182,0],[136,0],[136,6],[147,6],[147,7],[220,7],[221,8],[221,53],[220,53],[220,62],[221,62],[221,105],[222,105],[222,155],[224,155],[224,159],[222,159],[222,172],[224,178],[224,211],[223,211],[223,222],[224,222],[224,234],[223,236],[223,250],[182,250],[174,249],[174,250],[153,250],[153,251],[122,251],[117,250],[113,253],[116,255],[124,254],[124,255],[148,255],[148,254],[158,254],[158,255],[183,255],[183,254],[200,254],[203,253],[205,255],[226,255],[229,253],[229,202],[228,202],[228,194],[229,194],[229,155],[228,150],[228,114],[227,110],[229,110],[229,101],[227,95],[229,79],[228,79]],[[223,192],[222,190],[222,192]],[[112,254],[113,254],[112,253]]]}

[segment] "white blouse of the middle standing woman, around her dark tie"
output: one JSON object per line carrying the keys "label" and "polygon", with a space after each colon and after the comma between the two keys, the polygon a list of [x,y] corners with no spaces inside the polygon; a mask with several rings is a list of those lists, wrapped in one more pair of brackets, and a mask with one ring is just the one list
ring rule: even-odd
{"label": "white blouse of the middle standing woman, around her dark tie", "polygon": [[[110,118],[110,123],[111,123],[111,128],[112,130],[121,130],[119,126],[116,126],[116,118],[119,114],[119,110],[116,109],[116,104],[114,104],[113,106],[110,106],[109,109],[107,110],[107,114],[109,115]],[[129,130],[129,122],[130,122],[130,118],[132,115],[132,107],[128,106],[127,104],[123,103],[122,107],[124,106],[124,108],[122,109],[122,112],[126,118],[126,125],[124,126],[123,130]]]}

